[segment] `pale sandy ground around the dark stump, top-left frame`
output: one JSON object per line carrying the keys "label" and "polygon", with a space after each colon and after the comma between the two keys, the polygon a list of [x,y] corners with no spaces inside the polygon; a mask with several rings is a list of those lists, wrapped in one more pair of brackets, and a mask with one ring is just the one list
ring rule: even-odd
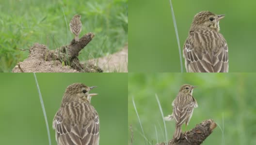
{"label": "pale sandy ground around the dark stump, top-left frame", "polygon": [[[59,60],[59,51],[49,50],[46,45],[35,43],[30,48],[29,58],[19,62],[13,69],[13,73],[81,73],[81,72],[128,72],[128,45],[121,51],[112,55],[90,59],[85,63],[80,63],[83,69],[74,69],[65,62]],[[63,54],[61,54],[63,56]],[[64,57],[63,57],[64,58]],[[78,60],[78,59],[77,59]],[[79,61],[79,60],[78,60]],[[79,63],[79,62],[76,62]],[[76,66],[75,66],[76,67]],[[79,68],[79,67],[77,67]]]}

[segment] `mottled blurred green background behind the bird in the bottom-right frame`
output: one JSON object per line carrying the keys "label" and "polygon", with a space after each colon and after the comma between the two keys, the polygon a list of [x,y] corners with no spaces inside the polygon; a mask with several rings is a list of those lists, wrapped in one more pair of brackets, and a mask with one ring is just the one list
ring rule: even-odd
{"label": "mottled blurred green background behind the bird in the bottom-right frame", "polygon": [[[198,108],[194,109],[188,130],[206,119],[216,127],[203,145],[256,145],[256,73],[129,73],[128,125],[133,127],[133,145],[146,145],[132,96],[139,113],[145,137],[156,145],[164,141],[163,120],[155,97],[158,95],[164,116],[172,113],[171,103],[183,84],[198,86],[193,91]],[[222,123],[224,120],[224,124]],[[224,127],[224,128],[223,128]],[[168,140],[175,131],[175,121],[166,122]],[[182,128],[185,131],[185,125]],[[128,138],[131,131],[128,129]],[[128,145],[130,139],[128,139]]]}

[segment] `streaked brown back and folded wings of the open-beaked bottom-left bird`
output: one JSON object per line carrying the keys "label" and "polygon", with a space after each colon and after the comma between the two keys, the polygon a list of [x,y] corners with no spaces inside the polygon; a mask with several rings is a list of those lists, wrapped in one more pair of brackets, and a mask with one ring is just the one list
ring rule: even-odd
{"label": "streaked brown back and folded wings of the open-beaked bottom-left bird", "polygon": [[99,118],[89,104],[72,102],[62,106],[54,117],[53,129],[58,145],[98,145]]}

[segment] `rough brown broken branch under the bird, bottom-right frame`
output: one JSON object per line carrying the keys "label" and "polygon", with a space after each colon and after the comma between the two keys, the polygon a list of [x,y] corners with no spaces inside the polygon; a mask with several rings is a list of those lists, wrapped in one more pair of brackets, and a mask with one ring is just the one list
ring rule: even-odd
{"label": "rough brown broken branch under the bird, bottom-right frame", "polygon": [[[187,139],[182,133],[179,140],[172,139],[168,142],[168,145],[201,145],[216,126],[216,123],[212,119],[204,120],[192,130],[187,131]],[[165,143],[159,143],[157,145],[165,145]]]}

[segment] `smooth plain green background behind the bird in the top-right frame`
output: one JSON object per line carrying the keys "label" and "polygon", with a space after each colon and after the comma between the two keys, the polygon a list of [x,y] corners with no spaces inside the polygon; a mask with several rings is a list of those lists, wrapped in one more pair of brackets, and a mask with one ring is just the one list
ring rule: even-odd
{"label": "smooth plain green background behind the bird in the top-right frame", "polygon": [[[255,0],[172,0],[172,3],[182,49],[195,14],[207,10],[225,14],[220,32],[229,47],[229,72],[256,72]],[[128,12],[129,72],[180,72],[169,0],[129,0]]]}

